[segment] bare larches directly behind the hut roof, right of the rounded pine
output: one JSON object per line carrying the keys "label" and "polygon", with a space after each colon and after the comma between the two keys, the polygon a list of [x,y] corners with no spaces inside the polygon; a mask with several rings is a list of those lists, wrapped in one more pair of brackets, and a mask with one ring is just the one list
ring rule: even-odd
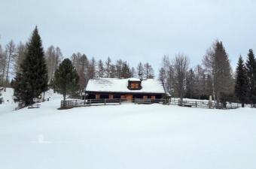
{"label": "bare larches directly behind the hut roof, right of the rounded pine", "polygon": [[93,57],[88,59],[85,54],[73,53],[72,65],[78,71],[80,91],[83,91],[86,87],[88,80],[94,77],[105,78],[130,78],[137,77],[141,79],[153,79],[154,69],[149,63],[142,64],[139,62],[136,68],[130,67],[128,62],[118,59],[112,62],[108,57],[105,61],[96,59]]}

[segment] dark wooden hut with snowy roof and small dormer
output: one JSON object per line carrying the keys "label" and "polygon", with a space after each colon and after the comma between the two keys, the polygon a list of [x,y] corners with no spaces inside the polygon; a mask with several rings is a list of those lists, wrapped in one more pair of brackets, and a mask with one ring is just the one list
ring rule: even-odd
{"label": "dark wooden hut with snowy roof and small dormer", "polygon": [[136,98],[160,99],[164,94],[162,81],[154,79],[93,78],[85,89],[87,99],[122,98],[133,101]]}

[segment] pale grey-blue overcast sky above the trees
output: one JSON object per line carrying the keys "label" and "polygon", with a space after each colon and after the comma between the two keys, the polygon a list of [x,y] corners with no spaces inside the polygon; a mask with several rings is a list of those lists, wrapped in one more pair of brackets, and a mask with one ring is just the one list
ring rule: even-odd
{"label": "pale grey-blue overcast sky above the trees", "polygon": [[0,44],[27,41],[37,25],[44,48],[59,46],[65,57],[81,52],[158,68],[175,53],[197,65],[218,39],[234,66],[256,50],[255,9],[254,0],[0,0]]}

